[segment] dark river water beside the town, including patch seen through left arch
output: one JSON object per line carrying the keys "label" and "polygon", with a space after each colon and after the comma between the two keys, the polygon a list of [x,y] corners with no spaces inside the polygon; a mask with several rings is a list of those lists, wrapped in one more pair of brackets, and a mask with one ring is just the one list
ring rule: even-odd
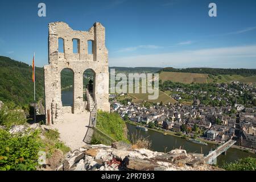
{"label": "dark river water beside the town, including patch seen through left arch", "polygon": [[[73,104],[73,89],[63,90],[61,91],[61,101],[63,105],[72,105]],[[216,148],[215,144],[208,144],[208,146],[203,146],[201,144],[196,144],[192,142],[188,142],[187,140],[175,137],[172,135],[163,135],[157,131],[141,131],[136,129],[136,126],[131,125],[129,123],[126,124],[128,129],[128,136],[131,137],[132,134],[142,135],[143,137],[148,137],[152,142],[151,150],[153,151],[170,151],[174,148],[183,148],[187,152],[196,152],[207,155],[211,149]],[[236,148],[229,148],[226,152],[226,155],[220,155],[217,158],[218,166],[222,166],[222,164],[234,162],[235,160],[246,158],[247,156],[252,156],[256,158],[256,154],[251,154],[249,152],[241,151]]]}

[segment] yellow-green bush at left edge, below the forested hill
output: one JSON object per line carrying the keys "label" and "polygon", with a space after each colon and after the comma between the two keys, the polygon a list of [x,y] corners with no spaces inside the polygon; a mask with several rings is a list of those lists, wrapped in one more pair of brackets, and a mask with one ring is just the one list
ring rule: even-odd
{"label": "yellow-green bush at left edge, below the forested hill", "polygon": [[23,125],[27,122],[22,107],[16,106],[14,102],[5,102],[0,110],[0,125],[11,127]]}

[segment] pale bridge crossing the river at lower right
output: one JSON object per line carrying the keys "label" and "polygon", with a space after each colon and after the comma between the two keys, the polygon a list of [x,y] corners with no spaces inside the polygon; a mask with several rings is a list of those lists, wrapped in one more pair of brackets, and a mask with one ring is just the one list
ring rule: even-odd
{"label": "pale bridge crossing the river at lower right", "polygon": [[210,151],[209,154],[204,158],[205,162],[208,164],[216,164],[217,157],[222,153],[226,152],[236,142],[236,140],[228,140],[228,142],[222,144],[221,146],[218,146],[216,150]]}

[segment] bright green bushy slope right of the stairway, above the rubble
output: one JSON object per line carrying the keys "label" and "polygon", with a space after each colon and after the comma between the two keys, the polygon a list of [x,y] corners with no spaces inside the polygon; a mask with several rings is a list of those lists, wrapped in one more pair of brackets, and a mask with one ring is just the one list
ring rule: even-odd
{"label": "bright green bushy slope right of the stairway, above the rubble", "polygon": [[97,128],[115,140],[129,142],[125,137],[125,122],[117,113],[97,112]]}

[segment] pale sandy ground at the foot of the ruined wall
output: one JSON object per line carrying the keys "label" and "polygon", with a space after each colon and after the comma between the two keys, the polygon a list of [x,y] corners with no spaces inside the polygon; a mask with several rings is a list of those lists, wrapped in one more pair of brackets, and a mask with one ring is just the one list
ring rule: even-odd
{"label": "pale sandy ground at the foot of the ruined wall", "polygon": [[60,133],[60,140],[71,150],[84,146],[82,141],[89,125],[90,113],[85,111],[82,114],[64,114],[64,122],[51,125],[50,129],[57,129]]}

